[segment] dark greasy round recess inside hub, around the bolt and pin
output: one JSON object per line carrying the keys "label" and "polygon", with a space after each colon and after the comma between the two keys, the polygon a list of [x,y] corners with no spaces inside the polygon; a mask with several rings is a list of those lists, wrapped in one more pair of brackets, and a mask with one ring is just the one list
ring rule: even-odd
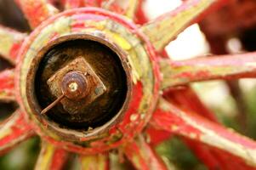
{"label": "dark greasy round recess inside hub, around the bolt and pin", "polygon": [[[89,73],[82,70],[83,67],[88,69]],[[111,48],[100,42],[85,39],[61,42],[43,55],[35,78],[36,98],[42,109],[60,97],[60,91],[63,90],[61,82],[63,83],[65,76],[60,79],[59,75],[61,71],[68,69],[70,70],[66,71],[65,76],[70,74],[70,71],[77,71],[78,76],[82,72],[84,75],[80,75],[81,77],[88,77],[86,81],[91,80],[93,83],[91,86],[94,88],[89,89],[93,92],[86,92],[82,97],[75,96],[74,99],[62,99],[48,111],[50,120],[60,124],[60,127],[87,130],[90,127],[102,126],[119,114],[128,93],[127,74],[122,61]],[[76,84],[69,85],[76,88],[73,86]],[[88,84],[84,84],[84,87],[88,88]],[[99,90],[104,90],[104,93]],[[97,96],[97,93],[100,95]],[[90,101],[87,102],[88,100]]]}

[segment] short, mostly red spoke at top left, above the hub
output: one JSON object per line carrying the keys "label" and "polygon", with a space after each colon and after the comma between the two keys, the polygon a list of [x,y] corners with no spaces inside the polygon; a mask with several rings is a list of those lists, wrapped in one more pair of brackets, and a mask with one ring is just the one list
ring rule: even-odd
{"label": "short, mostly red spoke at top left, above the hub", "polygon": [[43,20],[58,13],[48,0],[15,0],[26,16],[31,28],[40,25]]}

